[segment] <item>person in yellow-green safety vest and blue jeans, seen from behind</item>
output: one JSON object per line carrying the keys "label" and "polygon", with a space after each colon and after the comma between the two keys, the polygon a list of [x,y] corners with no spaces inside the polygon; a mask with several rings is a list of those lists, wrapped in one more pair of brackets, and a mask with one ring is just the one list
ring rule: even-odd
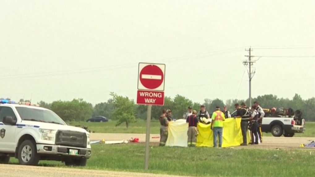
{"label": "person in yellow-green safety vest and blue jeans, seen from behind", "polygon": [[217,147],[217,136],[219,135],[219,148],[222,147],[222,136],[223,136],[223,121],[225,116],[220,107],[216,106],[216,111],[212,113],[211,130],[213,131],[213,145]]}

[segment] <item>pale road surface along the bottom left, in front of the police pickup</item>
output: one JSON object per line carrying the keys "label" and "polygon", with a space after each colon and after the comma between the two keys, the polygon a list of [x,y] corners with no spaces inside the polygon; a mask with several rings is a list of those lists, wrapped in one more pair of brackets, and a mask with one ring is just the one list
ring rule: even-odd
{"label": "pale road surface along the bottom left, in front of the police pickup", "polygon": [[[172,177],[171,175],[0,164],[2,177]],[[175,177],[175,176],[174,176]]]}

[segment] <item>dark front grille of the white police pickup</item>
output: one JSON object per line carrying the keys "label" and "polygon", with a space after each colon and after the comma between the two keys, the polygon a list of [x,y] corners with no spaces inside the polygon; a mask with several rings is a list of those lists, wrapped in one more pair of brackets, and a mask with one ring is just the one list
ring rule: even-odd
{"label": "dark front grille of the white police pickup", "polygon": [[85,133],[59,130],[56,134],[56,145],[86,148]]}

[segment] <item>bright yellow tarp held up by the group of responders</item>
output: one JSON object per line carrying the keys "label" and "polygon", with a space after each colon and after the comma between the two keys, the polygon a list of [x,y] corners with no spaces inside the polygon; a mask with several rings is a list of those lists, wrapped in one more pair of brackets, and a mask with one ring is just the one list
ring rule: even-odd
{"label": "bright yellow tarp held up by the group of responders", "polygon": [[[197,136],[197,146],[213,147],[213,132],[210,124],[198,123],[199,134]],[[218,137],[219,139],[219,137]],[[250,142],[249,131],[247,133],[247,143]],[[239,146],[243,143],[241,131],[241,118],[227,118],[223,122],[223,144],[222,147]]]}

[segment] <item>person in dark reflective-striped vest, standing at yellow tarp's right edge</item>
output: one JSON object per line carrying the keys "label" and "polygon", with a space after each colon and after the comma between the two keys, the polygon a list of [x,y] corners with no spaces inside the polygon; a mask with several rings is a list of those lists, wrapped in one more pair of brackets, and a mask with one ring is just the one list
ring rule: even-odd
{"label": "person in dark reflective-striped vest, standing at yellow tarp's right edge", "polygon": [[247,131],[248,131],[248,121],[249,121],[249,109],[246,107],[246,104],[243,102],[241,104],[242,108],[239,111],[240,116],[242,117],[241,120],[241,129],[242,129],[242,136],[243,136],[243,143],[241,146],[247,146]]}

